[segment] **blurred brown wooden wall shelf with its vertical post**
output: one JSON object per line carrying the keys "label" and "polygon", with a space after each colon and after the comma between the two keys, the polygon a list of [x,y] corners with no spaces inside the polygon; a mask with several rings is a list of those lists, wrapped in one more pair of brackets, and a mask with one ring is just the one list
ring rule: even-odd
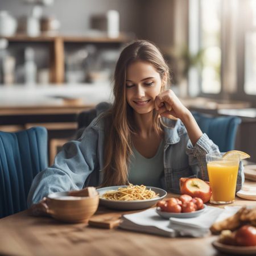
{"label": "blurred brown wooden wall shelf with its vertical post", "polygon": [[50,80],[55,84],[63,84],[64,82],[64,60],[65,60],[65,43],[126,43],[132,38],[126,34],[120,34],[118,38],[109,38],[107,36],[88,36],[88,35],[40,35],[36,37],[30,37],[25,34],[17,34],[15,36],[3,37],[9,42],[23,42],[23,43],[51,43],[50,48]]}

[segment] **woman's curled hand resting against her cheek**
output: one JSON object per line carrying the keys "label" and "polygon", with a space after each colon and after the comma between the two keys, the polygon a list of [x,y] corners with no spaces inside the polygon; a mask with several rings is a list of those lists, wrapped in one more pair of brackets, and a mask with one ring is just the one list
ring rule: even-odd
{"label": "woman's curled hand resting against her cheek", "polygon": [[166,90],[155,98],[155,109],[162,117],[176,117],[184,121],[189,115],[189,110],[180,102],[172,90]]}

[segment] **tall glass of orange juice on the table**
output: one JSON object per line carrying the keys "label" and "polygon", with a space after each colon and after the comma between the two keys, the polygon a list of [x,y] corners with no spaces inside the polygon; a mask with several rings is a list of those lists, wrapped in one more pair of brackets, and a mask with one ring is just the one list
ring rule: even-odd
{"label": "tall glass of orange juice on the table", "polygon": [[207,170],[212,188],[212,204],[233,203],[240,159],[223,158],[225,153],[207,154]]}

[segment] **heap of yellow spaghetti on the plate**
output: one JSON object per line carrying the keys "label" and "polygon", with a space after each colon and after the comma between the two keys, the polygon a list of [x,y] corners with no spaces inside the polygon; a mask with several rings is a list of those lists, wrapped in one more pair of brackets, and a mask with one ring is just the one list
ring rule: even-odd
{"label": "heap of yellow spaghetti on the plate", "polygon": [[158,197],[151,189],[146,189],[144,185],[129,184],[127,187],[120,187],[117,190],[110,190],[105,192],[101,199],[114,200],[114,201],[134,201],[134,200],[147,200]]}

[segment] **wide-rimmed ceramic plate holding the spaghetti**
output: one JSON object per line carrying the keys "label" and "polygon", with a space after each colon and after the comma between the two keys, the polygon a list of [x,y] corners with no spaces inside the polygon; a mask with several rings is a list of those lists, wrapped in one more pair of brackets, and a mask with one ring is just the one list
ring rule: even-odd
{"label": "wide-rimmed ceramic plate holding the spaghetti", "polygon": [[97,192],[100,195],[100,205],[103,205],[105,207],[112,208],[112,209],[117,209],[117,210],[140,210],[140,209],[151,207],[152,205],[156,204],[159,200],[162,200],[167,195],[167,192],[161,188],[146,187],[147,189],[151,189],[152,191],[154,191],[156,194],[159,194],[159,197],[156,197],[154,199],[134,200],[134,201],[124,201],[124,200],[113,201],[113,200],[107,200],[107,199],[101,198],[101,196],[105,192],[109,190],[117,190],[120,187],[127,187],[127,186],[123,185],[123,186],[114,186],[114,187],[97,189]]}

